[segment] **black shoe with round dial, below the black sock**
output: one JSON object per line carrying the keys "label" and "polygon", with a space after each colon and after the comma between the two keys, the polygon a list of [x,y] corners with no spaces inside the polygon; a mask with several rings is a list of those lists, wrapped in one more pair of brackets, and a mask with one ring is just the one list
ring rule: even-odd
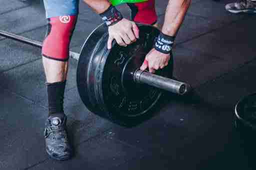
{"label": "black shoe with round dial, below the black sock", "polygon": [[67,140],[64,114],[48,117],[45,122],[44,139],[46,152],[51,158],[60,161],[71,158],[72,149]]}

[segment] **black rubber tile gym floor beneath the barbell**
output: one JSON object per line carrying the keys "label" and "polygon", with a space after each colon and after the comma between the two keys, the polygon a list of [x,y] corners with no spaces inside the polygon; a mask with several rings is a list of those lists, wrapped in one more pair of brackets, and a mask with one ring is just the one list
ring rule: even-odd
{"label": "black rubber tile gym floor beneath the barbell", "polygon": [[[159,22],[167,0],[156,0]],[[123,128],[90,113],[70,59],[64,110],[74,157],[44,151],[47,116],[40,49],[0,37],[0,170],[255,170],[254,147],[233,128],[234,105],[255,90],[255,15],[232,14],[232,0],[192,0],[173,48],[174,76],[194,92],[173,97],[153,118]],[[127,6],[118,7],[128,17]],[[71,42],[79,52],[100,18],[82,1]],[[0,29],[42,41],[40,0],[0,0]],[[252,136],[255,134],[251,134]]]}

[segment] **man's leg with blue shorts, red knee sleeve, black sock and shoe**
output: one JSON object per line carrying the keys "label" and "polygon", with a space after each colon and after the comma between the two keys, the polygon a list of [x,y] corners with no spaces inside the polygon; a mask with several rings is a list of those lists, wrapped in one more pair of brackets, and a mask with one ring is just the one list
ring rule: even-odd
{"label": "man's leg with blue shorts, red knee sleeve, black sock and shoe", "polygon": [[76,0],[44,0],[48,27],[42,46],[46,76],[48,119],[45,123],[45,149],[56,160],[69,159],[63,98],[68,69],[69,42],[77,18]]}

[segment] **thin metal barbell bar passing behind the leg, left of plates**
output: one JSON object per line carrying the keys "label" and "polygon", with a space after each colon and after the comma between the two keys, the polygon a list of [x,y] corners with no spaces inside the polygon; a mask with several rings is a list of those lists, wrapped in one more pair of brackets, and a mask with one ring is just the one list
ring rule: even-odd
{"label": "thin metal barbell bar passing behind the leg, left of plates", "polygon": [[[16,35],[14,33],[10,33],[10,32],[7,32],[7,31],[0,30],[0,35],[4,36],[4,37],[7,37],[7,38],[14,39],[14,40],[19,41],[19,42],[23,42],[23,43],[38,47],[38,48],[42,47],[42,42],[40,42],[40,41],[32,40],[32,39],[29,39],[29,38],[26,38],[26,37],[23,37],[23,36],[20,36],[20,35]],[[70,57],[78,60],[80,54],[76,53],[76,52],[69,51],[69,55],[70,55]]]}

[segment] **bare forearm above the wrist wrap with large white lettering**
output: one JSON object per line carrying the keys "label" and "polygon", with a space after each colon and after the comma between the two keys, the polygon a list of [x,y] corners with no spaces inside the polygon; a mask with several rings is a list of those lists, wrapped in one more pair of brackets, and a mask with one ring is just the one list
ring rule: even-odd
{"label": "bare forearm above the wrist wrap with large white lettering", "polygon": [[175,36],[191,0],[169,0],[166,7],[162,33]]}

